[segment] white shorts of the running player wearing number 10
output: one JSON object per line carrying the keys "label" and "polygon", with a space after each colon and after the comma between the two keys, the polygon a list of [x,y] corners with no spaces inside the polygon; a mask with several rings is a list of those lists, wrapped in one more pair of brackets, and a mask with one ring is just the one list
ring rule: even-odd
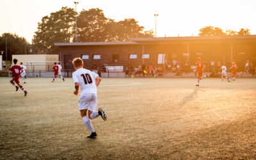
{"label": "white shorts of the running player wearing number 10", "polygon": [[89,109],[95,111],[97,108],[97,95],[95,93],[84,93],[80,95],[78,101],[78,109]]}

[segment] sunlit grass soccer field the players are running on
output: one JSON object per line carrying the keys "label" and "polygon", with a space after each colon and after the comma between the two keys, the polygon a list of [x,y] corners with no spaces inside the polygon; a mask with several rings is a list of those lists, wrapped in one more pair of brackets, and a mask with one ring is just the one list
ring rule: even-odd
{"label": "sunlit grass soccer field the players are running on", "polygon": [[94,140],[71,78],[29,78],[26,97],[9,80],[0,159],[256,159],[256,79],[103,78]]}

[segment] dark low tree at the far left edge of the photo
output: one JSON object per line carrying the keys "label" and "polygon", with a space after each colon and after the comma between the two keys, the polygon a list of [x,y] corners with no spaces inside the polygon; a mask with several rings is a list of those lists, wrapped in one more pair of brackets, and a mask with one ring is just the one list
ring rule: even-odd
{"label": "dark low tree at the far left edge of the photo", "polygon": [[7,60],[12,60],[12,54],[29,54],[30,44],[24,37],[12,33],[3,33],[0,36],[0,51],[4,51],[3,60],[6,60],[6,40]]}

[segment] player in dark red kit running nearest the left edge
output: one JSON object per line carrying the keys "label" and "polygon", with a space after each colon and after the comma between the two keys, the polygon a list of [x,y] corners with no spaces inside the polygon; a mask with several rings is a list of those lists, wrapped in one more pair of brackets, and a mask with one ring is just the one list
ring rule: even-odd
{"label": "player in dark red kit running nearest the left edge", "polygon": [[23,86],[20,85],[20,81],[19,81],[20,73],[24,72],[24,70],[19,65],[17,65],[17,62],[18,62],[18,60],[16,58],[14,58],[14,60],[13,60],[14,65],[12,65],[12,67],[9,69],[10,70],[9,73],[12,74],[12,76],[13,76],[10,83],[12,83],[13,86],[16,87],[16,92],[17,92],[17,90],[19,90],[19,87],[20,87],[20,89],[25,93],[25,96],[26,96],[28,92],[26,92],[26,90],[23,88]]}

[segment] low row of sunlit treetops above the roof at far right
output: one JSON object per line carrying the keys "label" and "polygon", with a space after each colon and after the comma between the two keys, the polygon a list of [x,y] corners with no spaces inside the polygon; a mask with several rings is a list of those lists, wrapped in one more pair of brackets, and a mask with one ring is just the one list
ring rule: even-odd
{"label": "low row of sunlit treetops above the roof at far right", "polygon": [[201,28],[198,36],[236,36],[236,35],[250,35],[250,29],[241,28],[240,31],[232,31],[226,30],[224,33],[221,28],[214,28],[212,26],[206,26],[205,28]]}

